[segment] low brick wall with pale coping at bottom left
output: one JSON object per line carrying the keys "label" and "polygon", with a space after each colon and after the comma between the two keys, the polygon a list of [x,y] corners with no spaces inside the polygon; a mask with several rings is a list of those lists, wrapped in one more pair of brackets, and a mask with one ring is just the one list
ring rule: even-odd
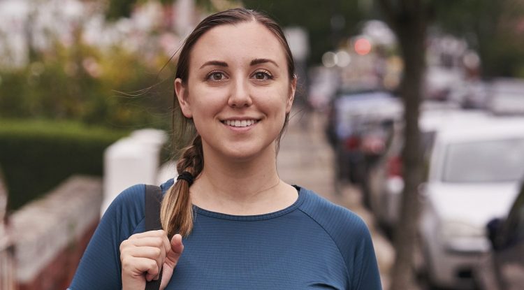
{"label": "low brick wall with pale coping at bottom left", "polygon": [[10,216],[19,290],[66,289],[99,222],[102,182],[75,176]]}

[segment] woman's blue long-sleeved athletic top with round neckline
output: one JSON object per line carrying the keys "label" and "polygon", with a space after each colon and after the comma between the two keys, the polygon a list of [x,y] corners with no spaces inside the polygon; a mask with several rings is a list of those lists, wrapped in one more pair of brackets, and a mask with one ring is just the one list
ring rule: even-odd
{"label": "woman's blue long-sleeved athletic top with round neckline", "polygon": [[[173,180],[161,185],[162,191]],[[381,289],[370,233],[360,217],[313,191],[266,215],[194,206],[194,228],[166,289]],[[71,290],[122,289],[119,245],[145,231],[144,184],[119,194],[82,256]]]}

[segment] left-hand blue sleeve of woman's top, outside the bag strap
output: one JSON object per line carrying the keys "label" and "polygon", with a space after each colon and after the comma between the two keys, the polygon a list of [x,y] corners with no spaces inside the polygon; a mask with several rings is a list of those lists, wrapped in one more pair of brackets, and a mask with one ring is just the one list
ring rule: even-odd
{"label": "left-hand blue sleeve of woman's top, outside the bag strap", "polygon": [[145,186],[122,191],[105,211],[87,245],[68,290],[122,289],[120,243],[144,218]]}

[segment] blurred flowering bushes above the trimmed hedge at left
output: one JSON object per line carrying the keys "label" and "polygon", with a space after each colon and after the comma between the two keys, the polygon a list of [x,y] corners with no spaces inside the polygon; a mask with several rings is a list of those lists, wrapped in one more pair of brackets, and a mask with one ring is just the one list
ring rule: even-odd
{"label": "blurred flowering bushes above the trimmed hedge at left", "polygon": [[56,43],[28,66],[0,71],[0,116],[167,128],[172,84],[159,81],[173,74],[170,66],[161,71],[167,63],[124,48]]}

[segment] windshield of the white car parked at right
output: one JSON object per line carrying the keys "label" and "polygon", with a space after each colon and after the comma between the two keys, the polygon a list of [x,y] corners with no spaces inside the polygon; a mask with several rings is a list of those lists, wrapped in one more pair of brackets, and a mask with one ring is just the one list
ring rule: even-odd
{"label": "windshield of the white car parked at right", "polygon": [[524,176],[524,139],[448,145],[444,182],[513,182]]}

